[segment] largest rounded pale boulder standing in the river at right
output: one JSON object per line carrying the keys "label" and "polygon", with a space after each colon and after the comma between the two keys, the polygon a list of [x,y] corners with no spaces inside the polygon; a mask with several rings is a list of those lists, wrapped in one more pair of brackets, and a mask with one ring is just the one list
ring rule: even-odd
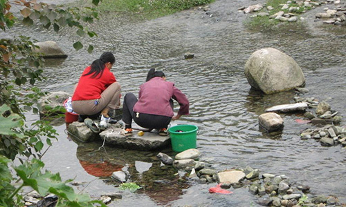
{"label": "largest rounded pale boulder standing in the river at right", "polygon": [[274,48],[253,52],[245,64],[248,83],[266,94],[304,86],[302,69],[293,58]]}

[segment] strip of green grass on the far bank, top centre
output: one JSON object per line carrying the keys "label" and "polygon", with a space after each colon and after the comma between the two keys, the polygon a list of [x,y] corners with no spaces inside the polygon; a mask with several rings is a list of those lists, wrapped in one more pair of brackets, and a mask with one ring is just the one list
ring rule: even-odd
{"label": "strip of green grass on the far bank, top centre", "polygon": [[138,14],[145,19],[154,19],[213,1],[215,0],[103,0],[98,10]]}

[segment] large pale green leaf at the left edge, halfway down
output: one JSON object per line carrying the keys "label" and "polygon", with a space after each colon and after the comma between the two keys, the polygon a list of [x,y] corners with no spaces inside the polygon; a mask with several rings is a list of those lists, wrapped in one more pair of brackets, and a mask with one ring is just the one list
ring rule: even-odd
{"label": "large pale green leaf at the left edge, halfway down", "polygon": [[[10,112],[10,115],[7,115]],[[4,117],[6,115],[6,117]],[[24,125],[23,119],[13,113],[10,107],[6,104],[0,106],[0,135],[12,135],[16,137],[24,137],[24,135],[19,134],[12,130],[12,128],[19,128]]]}

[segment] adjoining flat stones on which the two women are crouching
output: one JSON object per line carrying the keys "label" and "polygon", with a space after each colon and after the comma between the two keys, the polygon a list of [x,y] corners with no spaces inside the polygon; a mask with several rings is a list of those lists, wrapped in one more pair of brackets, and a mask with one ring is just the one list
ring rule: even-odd
{"label": "adjoining flat stones on which the two women are crouching", "polygon": [[152,132],[144,132],[143,136],[139,136],[139,128],[134,126],[134,132],[131,137],[120,135],[122,126],[120,124],[109,124],[108,128],[100,134],[92,132],[84,123],[78,121],[69,124],[69,137],[76,142],[90,142],[95,140],[104,140],[106,144],[117,146],[120,148],[131,148],[135,150],[155,150],[170,145],[170,136],[160,136],[157,130]]}

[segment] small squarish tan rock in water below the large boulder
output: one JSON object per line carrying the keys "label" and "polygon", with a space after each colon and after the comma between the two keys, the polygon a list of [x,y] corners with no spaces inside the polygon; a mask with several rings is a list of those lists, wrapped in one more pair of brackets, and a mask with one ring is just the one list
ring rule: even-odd
{"label": "small squarish tan rock in water below the large boulder", "polygon": [[284,127],[284,120],[274,112],[268,112],[260,115],[258,117],[258,122],[262,128],[266,129],[268,132],[273,132],[275,130],[280,130]]}

